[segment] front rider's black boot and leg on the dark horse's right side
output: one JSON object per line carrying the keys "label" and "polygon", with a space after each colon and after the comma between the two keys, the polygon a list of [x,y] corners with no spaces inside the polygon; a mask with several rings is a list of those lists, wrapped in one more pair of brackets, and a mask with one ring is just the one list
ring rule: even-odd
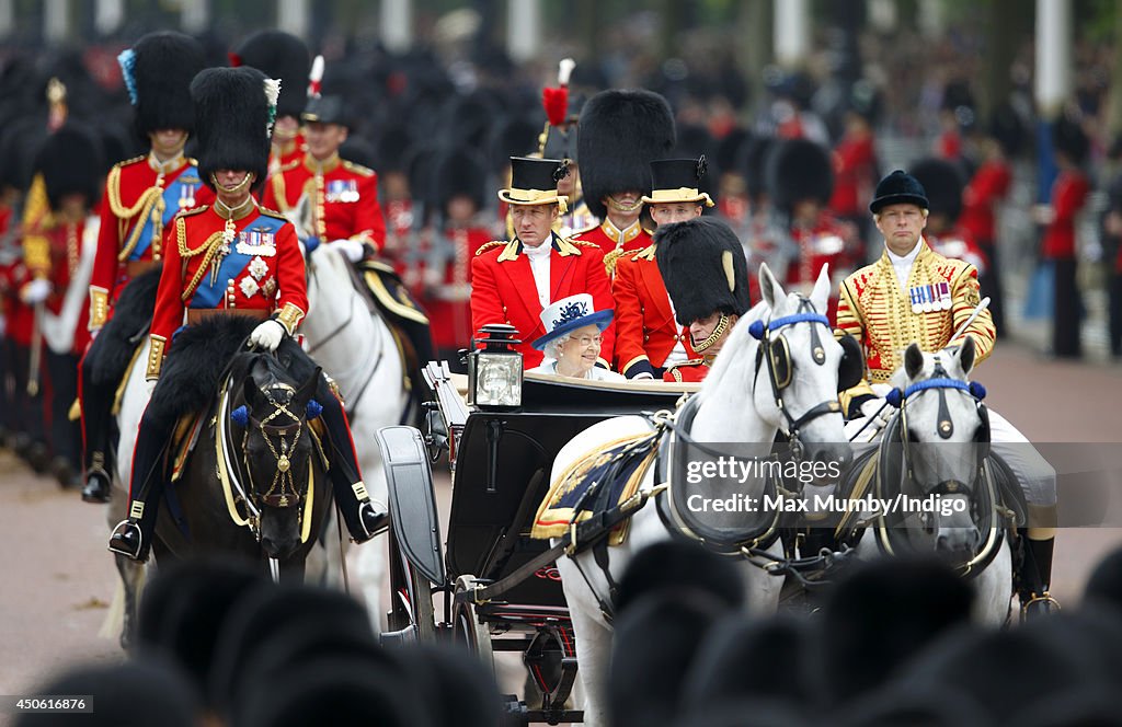
{"label": "front rider's black boot and leg on the dark horse's right side", "polygon": [[328,439],[331,442],[331,486],[335,503],[342,513],[351,540],[365,543],[389,524],[389,513],[380,503],[370,499],[362,484],[362,475],[358,467],[358,454],[351,441],[347,414],[339,398],[324,381],[316,394],[323,403],[323,423],[328,427]]}

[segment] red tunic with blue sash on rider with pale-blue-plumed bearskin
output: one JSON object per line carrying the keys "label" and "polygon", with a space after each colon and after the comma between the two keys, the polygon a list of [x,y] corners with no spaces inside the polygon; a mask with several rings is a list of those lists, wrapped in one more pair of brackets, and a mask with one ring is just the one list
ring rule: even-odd
{"label": "red tunic with blue sash on rider with pale-blue-plumed bearskin", "polygon": [[121,288],[144,267],[162,259],[164,230],[172,218],[213,199],[194,159],[180,157],[160,165],[148,155],[113,166],[102,195],[90,279],[91,328],[101,329]]}

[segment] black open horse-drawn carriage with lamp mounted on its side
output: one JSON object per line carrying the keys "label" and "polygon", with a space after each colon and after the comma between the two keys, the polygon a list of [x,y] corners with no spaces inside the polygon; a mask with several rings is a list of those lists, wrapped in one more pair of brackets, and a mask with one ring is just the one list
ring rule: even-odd
{"label": "black open horse-drawn carriage with lamp mounted on its side", "polygon": [[[378,435],[389,486],[389,632],[384,639],[448,637],[493,663],[521,652],[539,705],[507,697],[512,724],[580,721],[565,706],[577,677],[569,609],[550,545],[528,532],[558,451],[589,425],[624,414],[673,409],[697,385],[567,383],[527,374],[514,411],[469,408],[447,366],[430,364],[436,394],[429,431]],[[462,379],[462,377],[458,377]],[[448,454],[452,499],[442,542],[430,462]],[[486,598],[477,589],[486,587]],[[439,607],[433,607],[432,596]]]}

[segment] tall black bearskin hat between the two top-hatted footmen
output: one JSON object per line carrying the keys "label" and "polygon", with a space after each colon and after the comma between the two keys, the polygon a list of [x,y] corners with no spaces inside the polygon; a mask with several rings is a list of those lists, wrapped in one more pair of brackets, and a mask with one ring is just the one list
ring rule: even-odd
{"label": "tall black bearskin hat between the two top-hatted footmen", "polygon": [[674,117],[651,91],[601,91],[580,114],[580,184],[588,210],[607,217],[604,197],[627,190],[651,193],[651,162],[671,155]]}

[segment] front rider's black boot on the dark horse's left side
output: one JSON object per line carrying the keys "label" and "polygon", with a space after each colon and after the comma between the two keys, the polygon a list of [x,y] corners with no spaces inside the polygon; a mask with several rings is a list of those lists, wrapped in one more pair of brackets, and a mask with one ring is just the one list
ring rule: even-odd
{"label": "front rider's black boot on the dark horse's left side", "polygon": [[148,560],[159,501],[164,497],[164,452],[171,436],[167,427],[159,426],[155,417],[145,414],[132,455],[129,517],[109,536],[109,550],[141,563]]}

